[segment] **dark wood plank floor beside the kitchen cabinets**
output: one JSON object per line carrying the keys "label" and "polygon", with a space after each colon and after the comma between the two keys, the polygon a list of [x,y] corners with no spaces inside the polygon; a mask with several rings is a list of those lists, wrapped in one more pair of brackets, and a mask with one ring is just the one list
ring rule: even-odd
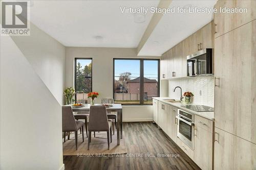
{"label": "dark wood plank floor beside the kitchen cabinets", "polygon": [[[65,169],[200,169],[176,143],[151,122],[124,123],[128,154],[143,157],[77,157],[64,156]],[[87,140],[87,138],[86,138]],[[149,156],[146,157],[148,154]],[[158,154],[174,154],[159,157]],[[178,156],[179,154],[179,156]],[[176,155],[176,157],[175,157]],[[152,157],[154,156],[154,157]]]}

